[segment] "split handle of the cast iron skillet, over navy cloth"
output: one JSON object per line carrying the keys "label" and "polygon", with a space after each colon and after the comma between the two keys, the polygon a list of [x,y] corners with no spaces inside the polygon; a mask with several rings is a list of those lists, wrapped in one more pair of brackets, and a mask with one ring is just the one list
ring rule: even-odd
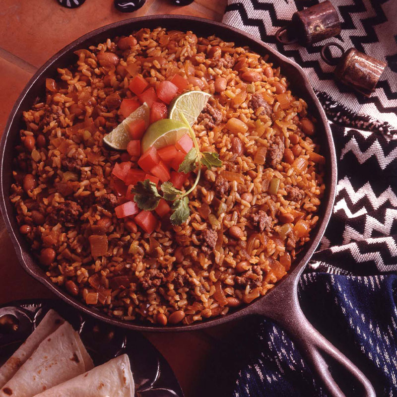
{"label": "split handle of the cast iron skillet, over navy cloth", "polygon": [[346,396],[331,375],[326,355],[339,363],[361,385],[363,397],[376,397],[368,378],[305,317],[298,300],[298,280],[299,274],[287,277],[268,292],[267,299],[251,305],[251,314],[268,317],[287,331],[332,397]]}

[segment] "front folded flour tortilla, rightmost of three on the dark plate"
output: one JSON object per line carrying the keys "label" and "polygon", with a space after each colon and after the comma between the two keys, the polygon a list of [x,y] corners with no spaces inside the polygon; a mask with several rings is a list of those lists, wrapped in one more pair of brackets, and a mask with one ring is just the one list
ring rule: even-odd
{"label": "front folded flour tortilla, rightmost of three on the dark plate", "polygon": [[127,354],[113,358],[85,374],[36,397],[133,397],[134,383]]}

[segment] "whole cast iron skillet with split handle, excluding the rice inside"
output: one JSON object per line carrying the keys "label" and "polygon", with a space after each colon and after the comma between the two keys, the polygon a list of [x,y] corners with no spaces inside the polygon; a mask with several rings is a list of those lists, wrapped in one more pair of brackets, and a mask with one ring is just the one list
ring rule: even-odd
{"label": "whole cast iron skillet with split handle, excluding the rice inside", "polygon": [[[325,178],[327,189],[320,208],[320,221],[317,228],[313,230],[311,234],[311,241],[297,257],[289,274],[264,297],[253,302],[249,306],[230,313],[225,317],[207,320],[189,326],[156,327],[139,322],[125,322],[117,320],[110,318],[93,308],[87,307],[80,301],[67,295],[46,277],[45,272],[30,255],[30,247],[23,236],[19,233],[15,213],[8,199],[9,188],[12,183],[11,169],[12,159],[14,157],[14,146],[19,137],[19,130],[23,128],[21,123],[22,111],[31,107],[36,96],[43,95],[45,92],[45,79],[47,77],[56,76],[57,67],[64,67],[74,63],[76,56],[73,55],[73,51],[76,49],[87,48],[89,45],[93,44],[96,45],[97,43],[106,41],[108,37],[113,38],[115,36],[128,35],[133,30],[138,30],[140,28],[155,28],[157,26],[162,26],[168,29],[192,30],[194,33],[203,36],[215,34],[223,38],[225,41],[234,41],[237,45],[250,46],[253,51],[258,52],[259,54],[269,54],[269,59],[276,65],[281,66],[282,73],[289,79],[293,92],[307,101],[311,114],[318,120],[318,137],[321,141],[320,143],[323,154],[327,159],[327,175]],[[42,66],[29,81],[16,101],[8,118],[8,122],[1,139],[0,166],[0,208],[22,267],[70,305],[97,319],[137,331],[192,331],[212,327],[245,316],[266,316],[278,322],[294,338],[295,342],[299,345],[301,351],[312,364],[313,369],[323,380],[332,396],[341,397],[344,395],[331,376],[328,365],[325,361],[326,356],[331,356],[331,358],[339,362],[346,370],[351,372],[354,378],[356,378],[356,380],[362,385],[363,395],[375,396],[375,392],[364,374],[309,323],[299,306],[297,296],[299,276],[318,246],[331,215],[336,189],[335,149],[326,115],[314,94],[303,69],[260,40],[257,40],[238,29],[231,28],[221,23],[179,15],[147,16],[128,19],[94,30],[66,46],[58,54],[52,57],[44,66]]]}

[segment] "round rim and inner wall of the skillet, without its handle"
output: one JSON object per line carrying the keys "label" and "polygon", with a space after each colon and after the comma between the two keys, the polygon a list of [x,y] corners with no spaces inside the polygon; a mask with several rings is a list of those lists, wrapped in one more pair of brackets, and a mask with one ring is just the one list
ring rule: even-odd
{"label": "round rim and inner wall of the skillet, without its handle", "polygon": [[[45,271],[32,257],[29,244],[25,240],[24,236],[19,233],[15,211],[9,200],[10,186],[12,183],[12,159],[15,155],[14,147],[19,139],[19,130],[23,128],[21,121],[22,112],[30,109],[37,96],[43,95],[45,92],[46,78],[56,76],[57,67],[64,67],[74,63],[76,56],[73,54],[73,51],[76,49],[87,48],[90,45],[104,42],[108,37],[112,38],[120,35],[128,35],[133,30],[138,30],[143,27],[155,28],[158,26],[168,29],[192,30],[194,33],[203,36],[215,34],[225,41],[234,41],[237,45],[249,46],[253,51],[261,55],[268,54],[269,60],[275,65],[281,67],[282,74],[288,78],[294,94],[304,98],[308,103],[311,115],[313,115],[318,121],[317,136],[321,144],[322,153],[326,157],[326,192],[318,213],[320,220],[316,228],[311,233],[310,242],[305,245],[302,252],[298,255],[288,275],[286,275],[275,288],[270,290],[264,297],[258,299],[253,304],[245,306],[226,316],[202,321],[189,326],[158,327],[149,323],[145,324],[141,321],[118,320],[109,317],[94,308],[88,307],[79,300],[68,295],[64,290],[50,281],[46,276]],[[147,16],[116,22],[87,33],[66,46],[58,54],[54,55],[31,78],[11,111],[1,139],[0,165],[1,213],[4,217],[6,228],[11,236],[12,243],[22,267],[30,275],[39,280],[57,296],[76,309],[113,325],[138,331],[191,331],[207,328],[242,316],[257,313],[258,304],[265,307],[267,304],[266,302],[270,302],[269,299],[271,300],[272,296],[276,292],[277,295],[282,295],[287,289],[291,288],[292,281],[294,283],[297,282],[299,274],[302,272],[304,266],[307,264],[314,250],[318,246],[331,215],[336,187],[336,157],[331,130],[323,108],[313,92],[303,69],[295,62],[282,56],[260,40],[257,40],[238,29],[206,19],[179,15]]]}

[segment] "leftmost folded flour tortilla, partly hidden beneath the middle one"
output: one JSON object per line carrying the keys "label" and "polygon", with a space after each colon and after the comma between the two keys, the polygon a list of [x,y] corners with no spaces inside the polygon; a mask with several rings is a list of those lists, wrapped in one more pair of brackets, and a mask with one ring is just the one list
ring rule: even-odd
{"label": "leftmost folded flour tortilla, partly hidden beneath the middle one", "polygon": [[0,368],[0,388],[18,371],[21,365],[32,355],[39,344],[57,330],[65,320],[54,310],[49,310],[37,328]]}

